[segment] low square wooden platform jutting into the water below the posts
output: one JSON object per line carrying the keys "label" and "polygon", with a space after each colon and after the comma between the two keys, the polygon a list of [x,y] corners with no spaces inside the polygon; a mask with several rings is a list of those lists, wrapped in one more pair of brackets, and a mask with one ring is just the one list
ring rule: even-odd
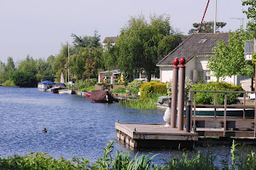
{"label": "low square wooden platform jutting into the water below the posts", "polygon": [[161,124],[115,123],[117,138],[135,148],[193,148],[197,133],[178,131]]}

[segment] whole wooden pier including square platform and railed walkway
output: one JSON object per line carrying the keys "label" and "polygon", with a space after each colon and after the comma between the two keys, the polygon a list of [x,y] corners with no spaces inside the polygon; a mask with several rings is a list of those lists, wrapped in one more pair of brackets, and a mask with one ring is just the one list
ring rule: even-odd
{"label": "whole wooden pier including square platform and railed walkway", "polygon": [[[214,93],[214,105],[197,105],[196,93]],[[217,105],[217,94],[224,94],[224,105]],[[227,94],[243,94],[242,105],[227,105]],[[189,107],[190,127],[193,129],[178,130],[164,127],[160,124],[115,123],[117,138],[131,147],[138,148],[191,148],[199,144],[201,139],[215,139],[220,144],[228,144],[231,140],[240,143],[256,145],[256,99],[254,105],[247,105],[246,94],[256,92],[230,91],[190,91],[189,96],[193,105]],[[197,108],[213,109],[212,116],[196,116]],[[218,109],[223,109],[223,116],[217,116]],[[241,116],[227,116],[229,110],[241,110]],[[247,116],[246,111],[253,110],[253,116]],[[186,117],[183,116],[183,122]],[[186,124],[183,124],[186,127]],[[193,127],[193,128],[192,128]],[[229,143],[230,144],[230,143]]]}

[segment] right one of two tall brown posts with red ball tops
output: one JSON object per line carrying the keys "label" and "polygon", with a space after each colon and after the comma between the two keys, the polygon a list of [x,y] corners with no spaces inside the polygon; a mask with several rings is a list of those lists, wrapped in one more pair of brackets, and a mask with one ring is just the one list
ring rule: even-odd
{"label": "right one of two tall brown posts with red ball tops", "polygon": [[183,130],[183,115],[184,115],[184,88],[185,88],[185,58],[180,59],[179,75],[178,75],[178,102],[177,102],[177,130]]}

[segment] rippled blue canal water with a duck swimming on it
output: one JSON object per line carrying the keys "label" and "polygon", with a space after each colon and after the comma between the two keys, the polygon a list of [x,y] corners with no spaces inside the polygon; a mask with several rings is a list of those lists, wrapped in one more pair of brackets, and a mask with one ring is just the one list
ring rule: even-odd
{"label": "rippled blue canal water with a duck swimming on it", "polygon": [[[94,162],[114,141],[114,151],[160,154],[154,163],[182,155],[183,150],[131,150],[116,139],[114,123],[165,123],[164,111],[127,109],[115,104],[92,103],[79,95],[39,92],[37,88],[0,87],[0,156],[46,152],[56,158],[73,156]],[[48,133],[43,133],[44,127]],[[201,150],[202,148],[196,148]],[[223,160],[230,147],[214,150]]]}

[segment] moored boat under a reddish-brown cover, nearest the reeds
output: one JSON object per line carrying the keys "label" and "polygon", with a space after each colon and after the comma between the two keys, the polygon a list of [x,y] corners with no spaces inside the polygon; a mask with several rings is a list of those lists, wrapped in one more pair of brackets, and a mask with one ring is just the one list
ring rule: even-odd
{"label": "moored boat under a reddish-brown cover, nearest the reeds", "polygon": [[108,90],[93,90],[90,93],[90,99],[92,99],[92,102],[97,103],[113,103],[118,101],[118,99],[115,99],[113,94]]}

